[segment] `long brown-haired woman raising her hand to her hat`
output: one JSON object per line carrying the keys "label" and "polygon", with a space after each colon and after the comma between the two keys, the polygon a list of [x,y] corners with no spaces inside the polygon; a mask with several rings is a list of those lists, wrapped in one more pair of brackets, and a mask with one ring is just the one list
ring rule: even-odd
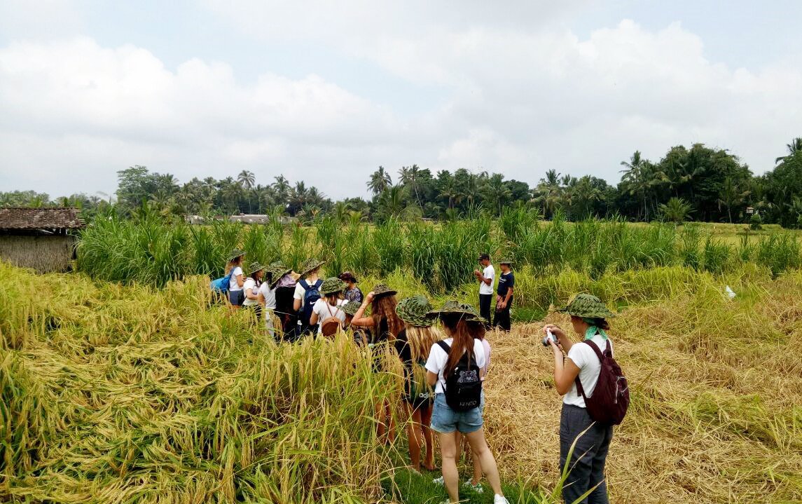
{"label": "long brown-haired woman raising her hand to her hat", "polygon": [[[373,291],[367,293],[362,306],[356,311],[351,326],[368,327],[371,330],[371,338],[368,340],[368,348],[374,352],[374,372],[380,372],[381,357],[384,355],[387,343],[392,343],[395,336],[403,329],[403,321],[395,313],[398,301],[395,299],[396,292],[391,290],[383,283],[373,287]],[[365,316],[367,305],[371,305],[371,316]],[[378,425],[376,434],[379,440],[387,443],[395,441],[395,424],[393,422],[390,401],[384,400],[382,404],[376,404],[376,419]]]}

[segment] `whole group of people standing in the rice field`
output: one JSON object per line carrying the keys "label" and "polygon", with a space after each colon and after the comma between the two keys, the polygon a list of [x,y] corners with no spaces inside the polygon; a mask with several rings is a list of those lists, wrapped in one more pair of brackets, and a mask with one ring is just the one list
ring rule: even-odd
{"label": "whole group of people standing in the rice field", "polygon": [[[268,331],[277,339],[291,342],[303,335],[329,336],[350,328],[356,343],[377,350],[395,349],[403,364],[401,411],[407,419],[412,470],[435,470],[436,433],[442,476],[434,481],[448,491],[449,500],[445,502],[459,502],[456,461],[464,437],[472,453],[473,474],[462,486],[483,492],[481,480],[487,478],[494,504],[508,502],[495,457],[484,438],[483,384],[491,354],[488,328],[510,328],[515,285],[510,261],[500,262],[491,322],[496,274],[488,254],[479,258],[483,270],[474,272],[480,282],[480,311],[457,301],[435,308],[423,295],[399,301],[396,291],[381,283],[363,295],[357,278],[349,271],[320,278],[323,262],[315,259],[307,261],[298,273],[282,262],[269,266],[253,262],[243,270],[243,256],[241,250],[234,250],[226,268],[230,274],[229,303],[234,309],[251,307],[257,320],[264,319]],[[607,319],[614,314],[591,295],[577,295],[561,311],[570,315],[573,330],[584,338],[583,342],[590,342],[574,343],[565,330],[553,324],[543,327],[549,335],[544,342],[549,342],[554,353],[557,392],[563,396],[560,468],[562,471],[567,466],[570,471],[563,485],[563,498],[565,502],[606,503],[604,471],[613,427],[594,422],[585,400],[592,396],[602,370],[602,354],[597,350],[601,348],[601,352],[612,355],[612,342],[606,331],[610,329]],[[280,322],[280,333],[273,327],[273,315]],[[374,360],[373,366],[375,372],[382,371],[379,360]],[[379,440],[394,441],[392,404],[379,401],[375,415]]]}

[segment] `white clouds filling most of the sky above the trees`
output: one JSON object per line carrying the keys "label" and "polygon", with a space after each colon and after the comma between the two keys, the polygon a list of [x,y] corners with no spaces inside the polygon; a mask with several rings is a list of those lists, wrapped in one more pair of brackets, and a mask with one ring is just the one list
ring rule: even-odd
{"label": "white clouds filling most of the sky above the trees", "polygon": [[412,163],[529,183],[551,168],[618,181],[618,162],[636,148],[656,159],[696,141],[760,172],[802,134],[792,61],[731,68],[678,23],[650,31],[624,20],[581,39],[560,27],[562,7],[501,16],[484,5],[218,10],[269,41],[334,47],[444,90],[444,104],[411,117],[314,74],[265,71],[246,84],[226,63],[190,59],[171,71],[133,45],[12,43],[0,48],[2,185],[109,191],[133,164],[183,181],[284,173],[332,197],[363,194],[377,165]]}

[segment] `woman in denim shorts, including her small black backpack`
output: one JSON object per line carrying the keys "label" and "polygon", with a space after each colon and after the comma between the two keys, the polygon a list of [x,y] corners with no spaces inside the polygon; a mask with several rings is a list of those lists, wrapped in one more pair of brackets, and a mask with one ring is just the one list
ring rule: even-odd
{"label": "woman in denim shorts, including her small black backpack", "polygon": [[430,311],[443,323],[447,339],[431,346],[426,361],[427,380],[435,386],[435,406],[431,414],[431,429],[438,434],[443,457],[443,479],[451,502],[459,502],[459,474],[456,469],[457,432],[479,459],[482,471],[490,482],[494,504],[508,504],[501,490],[496,458],[484,441],[482,428],[481,390],[484,348],[475,339],[469,324],[484,326],[484,319],[470,305],[456,301],[445,303],[439,310]]}

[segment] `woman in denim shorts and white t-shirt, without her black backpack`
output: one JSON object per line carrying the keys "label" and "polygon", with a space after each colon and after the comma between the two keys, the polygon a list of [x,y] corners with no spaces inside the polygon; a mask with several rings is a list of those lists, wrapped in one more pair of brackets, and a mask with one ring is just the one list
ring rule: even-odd
{"label": "woman in denim shorts and white t-shirt, without her black backpack", "polygon": [[[427,380],[435,387],[435,406],[431,413],[431,429],[438,433],[440,453],[443,459],[443,480],[448,490],[450,502],[460,501],[459,474],[456,469],[456,438],[459,431],[468,439],[473,453],[479,459],[484,474],[490,482],[495,493],[494,504],[508,504],[501,490],[496,458],[493,457],[487,442],[484,441],[482,425],[482,411],[479,404],[476,408],[458,412],[450,408],[445,399],[446,380],[467,352],[470,360],[476,361],[480,368],[480,377],[485,367],[484,348],[479,339],[474,339],[468,324],[484,324],[484,319],[470,305],[460,304],[456,301],[445,303],[439,310],[431,311],[430,316],[436,316],[443,323],[448,338],[444,343],[448,346],[448,353],[435,343],[431,346],[429,358],[426,361]],[[448,501],[447,501],[448,502]]]}

